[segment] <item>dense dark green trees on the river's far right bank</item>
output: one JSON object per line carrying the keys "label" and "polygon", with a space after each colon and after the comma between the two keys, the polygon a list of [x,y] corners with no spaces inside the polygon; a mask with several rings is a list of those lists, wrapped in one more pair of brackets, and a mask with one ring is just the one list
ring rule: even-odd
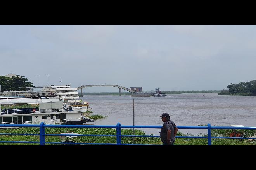
{"label": "dense dark green trees on the river's far right bank", "polygon": [[228,90],[221,90],[218,95],[253,95],[256,96],[256,80],[250,82],[231,83],[227,86]]}

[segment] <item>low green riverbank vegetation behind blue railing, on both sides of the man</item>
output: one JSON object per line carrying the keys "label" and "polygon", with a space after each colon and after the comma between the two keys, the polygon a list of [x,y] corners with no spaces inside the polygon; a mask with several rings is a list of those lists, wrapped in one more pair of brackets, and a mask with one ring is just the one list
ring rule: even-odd
{"label": "low green riverbank vegetation behind blue railing, on both sides of the man", "polygon": [[[85,125],[86,126],[86,125]],[[212,129],[212,136],[229,136],[230,130]],[[78,134],[106,134],[116,135],[116,129],[112,128],[45,128],[46,134],[60,134],[74,132]],[[247,131],[248,136],[255,131]],[[13,134],[39,134],[39,128],[16,128],[16,129],[0,129],[0,133]],[[249,134],[251,133],[251,134]],[[122,129],[122,135],[133,135],[133,129]],[[135,129],[135,135],[145,135],[144,131]],[[150,136],[153,136],[150,134]],[[177,136],[194,136],[191,134],[177,133]],[[199,134],[198,136],[207,137],[207,134]],[[115,136],[82,136],[79,137],[81,143],[116,143]],[[39,136],[21,136],[21,135],[0,135],[0,141],[40,141]],[[46,136],[46,142],[61,142],[60,136]],[[159,137],[122,137],[123,144],[156,144],[162,145]],[[0,145],[39,145],[37,143],[0,143]],[[61,145],[61,144],[46,144],[46,145]],[[208,145],[208,139],[197,138],[176,138],[175,145]],[[212,145],[256,145],[256,141],[247,139],[212,139]]]}

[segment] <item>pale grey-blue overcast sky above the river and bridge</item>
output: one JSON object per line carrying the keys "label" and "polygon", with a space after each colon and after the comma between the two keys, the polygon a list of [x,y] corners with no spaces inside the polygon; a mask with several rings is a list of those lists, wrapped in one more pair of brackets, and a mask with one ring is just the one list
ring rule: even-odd
{"label": "pale grey-blue overcast sky above the river and bridge", "polygon": [[[256,26],[0,26],[0,75],[33,85],[222,90],[256,79]],[[123,90],[122,90],[123,91]],[[119,92],[88,87],[83,92]]]}

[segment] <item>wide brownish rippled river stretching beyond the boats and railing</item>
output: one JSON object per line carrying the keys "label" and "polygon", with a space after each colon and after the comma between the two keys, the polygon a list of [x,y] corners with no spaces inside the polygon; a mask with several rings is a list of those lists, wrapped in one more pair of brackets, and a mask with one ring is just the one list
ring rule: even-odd
{"label": "wide brownish rippled river stretching beyond the boats and railing", "polygon": [[[217,93],[167,94],[166,97],[131,97],[130,95],[84,95],[94,111],[92,115],[108,116],[95,120],[94,125],[161,126],[161,115],[167,112],[177,126],[256,126],[255,96],[221,96]],[[146,134],[159,135],[160,129],[141,129]],[[207,130],[179,129],[182,133],[206,134]]]}

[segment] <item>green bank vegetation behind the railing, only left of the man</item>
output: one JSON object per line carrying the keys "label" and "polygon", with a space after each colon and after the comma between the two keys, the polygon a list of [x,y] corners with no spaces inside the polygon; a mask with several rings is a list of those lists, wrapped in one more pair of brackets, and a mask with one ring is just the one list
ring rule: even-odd
{"label": "green bank vegetation behind the railing, only left of the man", "polygon": [[[78,134],[108,134],[116,135],[116,129],[112,128],[45,128],[46,134],[60,134],[74,132]],[[0,133],[33,133],[39,134],[39,128],[17,128],[0,129]],[[132,129],[122,129],[122,135],[132,135]],[[135,135],[145,135],[143,131],[135,130]],[[83,136],[80,137],[82,143],[116,143],[116,137],[105,136]],[[0,135],[0,141],[36,141],[39,142],[39,136],[21,136],[21,135]],[[46,142],[60,142],[60,136],[46,136]],[[134,138],[135,143],[159,143],[159,138]],[[122,143],[133,143],[133,138],[122,137]],[[0,145],[39,145],[37,143],[0,143]],[[59,145],[59,144],[46,144]]]}

